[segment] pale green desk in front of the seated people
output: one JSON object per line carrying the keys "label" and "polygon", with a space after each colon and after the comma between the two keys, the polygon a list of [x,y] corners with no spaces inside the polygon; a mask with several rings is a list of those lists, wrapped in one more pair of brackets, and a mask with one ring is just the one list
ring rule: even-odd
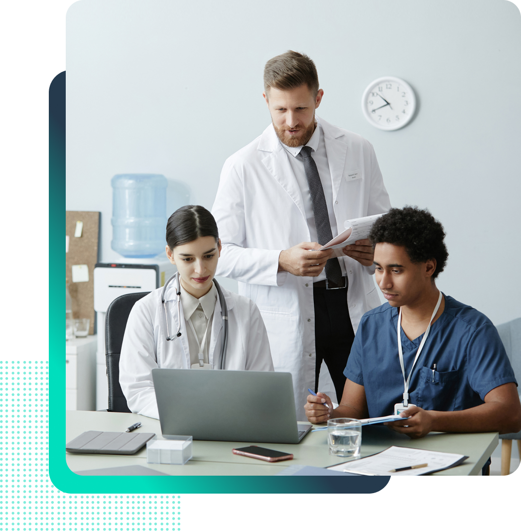
{"label": "pale green desk in front of the seated people", "polygon": [[[157,419],[135,413],[105,413],[98,411],[67,411],[66,441],[72,441],[84,431],[121,431],[141,422],[141,432],[161,436]],[[307,424],[307,423],[299,423]],[[498,433],[429,433],[422,439],[409,439],[407,435],[389,430],[386,426],[366,426],[362,429],[361,456],[385,450],[389,446],[406,446],[423,450],[463,453],[469,458],[463,465],[441,470],[433,476],[477,476],[485,461],[498,446]],[[289,465],[327,467],[346,461],[330,456],[327,447],[327,430],[308,433],[299,444],[254,443],[293,454],[291,461],[266,463],[244,456],[236,456],[232,448],[248,446],[247,442],[194,441],[193,458],[186,465],[155,465],[146,463],[146,447],[133,456],[73,454],[66,452],[67,466],[73,471],[116,466],[142,465],[172,476],[271,476]]]}

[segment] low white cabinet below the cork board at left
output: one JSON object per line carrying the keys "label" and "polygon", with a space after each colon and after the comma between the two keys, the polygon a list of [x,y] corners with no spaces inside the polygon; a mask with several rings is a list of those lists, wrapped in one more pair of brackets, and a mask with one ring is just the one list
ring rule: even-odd
{"label": "low white cabinet below the cork board at left", "polygon": [[95,411],[97,336],[65,342],[65,409]]}

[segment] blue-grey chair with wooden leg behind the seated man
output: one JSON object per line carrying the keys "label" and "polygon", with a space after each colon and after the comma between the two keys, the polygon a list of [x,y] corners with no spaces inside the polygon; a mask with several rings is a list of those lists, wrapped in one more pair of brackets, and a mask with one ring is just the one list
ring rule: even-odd
{"label": "blue-grey chair with wooden leg behind the seated man", "polygon": [[[508,323],[500,324],[496,328],[498,329],[503,346],[505,346],[505,350],[507,351],[512,369],[514,369],[517,383],[521,384],[521,317]],[[519,451],[519,457],[521,457],[521,431],[517,433],[503,433],[503,435],[499,435],[499,438],[502,439],[501,475],[508,476],[510,474],[510,455],[513,440],[517,440],[517,449]]]}

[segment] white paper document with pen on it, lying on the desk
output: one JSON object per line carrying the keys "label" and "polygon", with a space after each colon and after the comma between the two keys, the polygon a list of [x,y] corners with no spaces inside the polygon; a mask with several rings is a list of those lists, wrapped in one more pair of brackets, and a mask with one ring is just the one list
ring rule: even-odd
{"label": "white paper document with pen on it, lying on the desk", "polygon": [[[374,456],[348,461],[347,463],[327,468],[328,470],[344,470],[344,472],[362,476],[422,476],[461,465],[465,459],[468,459],[468,456],[463,456],[460,453],[435,452],[418,448],[392,446],[383,452],[375,453]],[[389,470],[423,463],[427,463],[427,466],[402,470],[402,472],[389,472]]]}

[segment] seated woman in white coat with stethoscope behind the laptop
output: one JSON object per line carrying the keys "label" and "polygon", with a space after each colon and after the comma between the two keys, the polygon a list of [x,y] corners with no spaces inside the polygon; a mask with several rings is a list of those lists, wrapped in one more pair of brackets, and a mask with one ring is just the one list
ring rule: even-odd
{"label": "seated woman in white coat with stethoscope behind the laptop", "polygon": [[[166,237],[168,259],[178,272],[166,289],[156,289],[136,302],[119,358],[119,383],[128,408],[153,418],[159,414],[152,369],[221,368],[223,319],[213,280],[221,241],[215,220],[205,208],[187,205],[170,216]],[[249,298],[219,288],[228,308],[222,369],[273,371],[257,306]]]}

